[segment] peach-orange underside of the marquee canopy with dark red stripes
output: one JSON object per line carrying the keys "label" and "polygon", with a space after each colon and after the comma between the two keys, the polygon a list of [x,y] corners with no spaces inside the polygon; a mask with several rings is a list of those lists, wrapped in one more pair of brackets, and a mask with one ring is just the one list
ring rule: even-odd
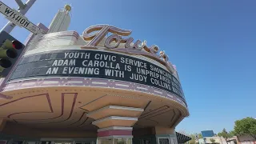
{"label": "peach-orange underside of the marquee canopy with dark red stripes", "polygon": [[[113,122],[134,128],[173,127],[178,120],[186,117],[186,108],[178,102],[131,90],[53,86],[10,90],[4,94],[13,98],[0,101],[0,117],[34,128],[97,130],[94,121],[102,119],[97,117],[97,113],[106,117],[122,117],[118,121],[104,121],[102,126],[105,127]],[[104,107],[106,109],[102,110]],[[129,119],[136,117],[137,120]]]}

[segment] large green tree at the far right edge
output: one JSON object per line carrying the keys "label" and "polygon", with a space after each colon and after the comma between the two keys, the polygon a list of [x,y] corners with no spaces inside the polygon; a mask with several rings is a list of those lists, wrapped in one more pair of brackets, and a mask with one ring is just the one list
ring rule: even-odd
{"label": "large green tree at the far right edge", "polygon": [[234,134],[248,134],[256,140],[256,119],[247,117],[234,122]]}

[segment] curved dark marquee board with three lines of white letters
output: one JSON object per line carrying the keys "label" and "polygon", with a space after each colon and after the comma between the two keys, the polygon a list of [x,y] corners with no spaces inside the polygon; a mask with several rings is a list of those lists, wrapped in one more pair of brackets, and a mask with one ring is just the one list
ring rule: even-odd
{"label": "curved dark marquee board with three lines of white letters", "polygon": [[98,50],[56,50],[30,54],[19,61],[10,82],[20,78],[106,78],[154,86],[184,98],[169,71],[142,59]]}

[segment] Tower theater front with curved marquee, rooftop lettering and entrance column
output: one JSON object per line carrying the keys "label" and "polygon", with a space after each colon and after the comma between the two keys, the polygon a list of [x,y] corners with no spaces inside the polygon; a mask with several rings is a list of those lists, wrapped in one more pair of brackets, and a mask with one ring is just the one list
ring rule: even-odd
{"label": "Tower theater front with curved marquee, rooftop lettering and entrance column", "polygon": [[130,34],[96,25],[35,36],[2,85],[1,143],[178,144],[189,116],[178,72]]}

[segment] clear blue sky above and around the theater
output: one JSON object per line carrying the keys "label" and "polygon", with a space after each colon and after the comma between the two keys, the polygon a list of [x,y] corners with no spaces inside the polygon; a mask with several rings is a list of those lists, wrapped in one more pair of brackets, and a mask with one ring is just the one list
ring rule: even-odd
{"label": "clear blue sky above and around the theater", "polygon": [[[14,0],[2,2],[18,8]],[[190,110],[176,130],[218,133],[256,118],[256,1],[37,0],[26,16],[49,26],[66,3],[73,6],[70,30],[110,24],[169,54]],[[6,22],[0,16],[0,27]],[[16,27],[12,34],[24,42],[29,32]]]}

